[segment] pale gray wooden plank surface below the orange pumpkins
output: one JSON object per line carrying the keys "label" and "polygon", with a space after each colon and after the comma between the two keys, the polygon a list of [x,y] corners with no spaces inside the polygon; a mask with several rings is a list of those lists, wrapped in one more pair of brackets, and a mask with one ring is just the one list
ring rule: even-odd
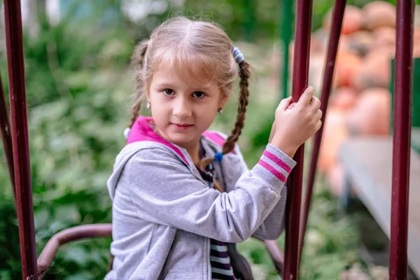
{"label": "pale gray wooden plank surface below the orange pumpkins", "polygon": [[[339,161],[360,200],[389,238],[391,227],[392,138],[354,137],[342,144]],[[420,277],[420,155],[411,151],[409,265]]]}

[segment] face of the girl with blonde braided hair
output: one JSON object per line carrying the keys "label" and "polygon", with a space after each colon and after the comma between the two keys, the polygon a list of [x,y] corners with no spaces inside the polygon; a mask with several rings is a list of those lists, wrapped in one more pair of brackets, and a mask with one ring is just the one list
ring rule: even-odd
{"label": "face of the girl with blonde braided hair", "polygon": [[197,146],[217,111],[228,101],[218,84],[191,85],[172,66],[160,66],[153,74],[147,93],[156,132],[182,148]]}

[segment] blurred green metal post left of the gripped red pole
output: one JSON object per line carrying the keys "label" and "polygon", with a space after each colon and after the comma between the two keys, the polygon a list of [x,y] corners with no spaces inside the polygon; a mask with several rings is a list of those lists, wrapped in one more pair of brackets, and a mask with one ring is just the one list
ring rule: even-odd
{"label": "blurred green metal post left of the gripped red pole", "polygon": [[281,26],[281,38],[283,41],[283,69],[281,71],[283,80],[282,97],[288,96],[288,61],[289,61],[289,45],[292,37],[292,18],[293,5],[290,0],[283,0],[283,25]]}

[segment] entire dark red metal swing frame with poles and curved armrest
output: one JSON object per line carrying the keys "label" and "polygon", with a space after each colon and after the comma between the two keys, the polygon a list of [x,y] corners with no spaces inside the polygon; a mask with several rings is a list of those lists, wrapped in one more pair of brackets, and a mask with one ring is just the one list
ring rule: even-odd
{"label": "entire dark red metal swing frame with poles and curved armrest", "polygon": [[[325,62],[321,109],[323,121],[327,111],[334,71],[339,34],[344,15],[345,0],[337,0],[332,18],[332,29]],[[20,252],[22,260],[22,279],[42,278],[55,257],[60,245],[90,237],[111,236],[111,224],[80,225],[54,235],[43,249],[36,263],[34,233],[34,213],[31,196],[31,170],[29,162],[29,143],[27,127],[27,105],[25,96],[25,69],[22,44],[22,18],[20,1],[5,0],[4,13],[6,22],[6,52],[8,60],[8,78],[10,90],[10,124],[6,100],[0,77],[0,129],[9,165],[10,179],[13,183],[16,208],[18,213]],[[295,55],[293,60],[293,99],[297,101],[307,87],[309,70],[309,45],[311,39],[312,0],[296,1],[295,20]],[[395,102],[394,102],[394,138],[393,138],[393,191],[391,210],[391,251],[390,279],[407,277],[407,226],[408,226],[408,191],[409,191],[409,147],[411,135],[412,108],[412,48],[413,48],[414,1],[397,1],[396,51],[395,51]],[[289,177],[289,192],[286,207],[286,254],[283,279],[298,279],[300,254],[307,226],[307,216],[311,193],[314,186],[316,162],[321,144],[323,127],[316,134],[311,169],[308,180],[307,197],[302,220],[300,202],[302,198],[302,172],[304,145],[295,155],[297,165]],[[302,223],[302,224],[301,224]],[[281,263],[283,255],[266,242],[275,263]],[[275,247],[275,248],[274,248]],[[273,248],[275,251],[272,251]],[[271,249],[271,250],[270,250]]]}

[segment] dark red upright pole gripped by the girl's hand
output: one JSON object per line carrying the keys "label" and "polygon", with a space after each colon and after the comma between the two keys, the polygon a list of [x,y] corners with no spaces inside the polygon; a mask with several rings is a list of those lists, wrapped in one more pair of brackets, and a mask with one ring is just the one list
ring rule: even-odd
{"label": "dark red upright pole gripped by the girl's hand", "polygon": [[[308,85],[309,46],[311,43],[312,0],[296,1],[295,50],[292,96],[297,101]],[[300,200],[302,199],[304,145],[296,152],[297,165],[289,176],[286,205],[286,241],[283,279],[297,279],[299,267]]]}

